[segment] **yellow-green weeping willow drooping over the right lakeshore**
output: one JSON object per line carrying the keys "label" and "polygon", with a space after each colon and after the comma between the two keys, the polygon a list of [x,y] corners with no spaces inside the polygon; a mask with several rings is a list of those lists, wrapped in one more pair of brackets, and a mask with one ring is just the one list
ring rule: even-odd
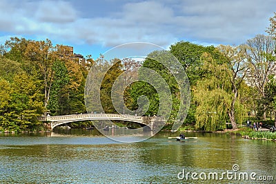
{"label": "yellow-green weeping willow drooping over the right lakeshore", "polygon": [[[204,76],[193,88],[197,105],[196,127],[206,131],[225,129],[226,122],[230,122],[229,111],[235,98],[229,77],[231,70],[226,62],[219,64],[207,53],[202,54],[201,63]],[[239,95],[233,109],[235,121],[242,122],[246,116],[246,108],[239,102]]]}

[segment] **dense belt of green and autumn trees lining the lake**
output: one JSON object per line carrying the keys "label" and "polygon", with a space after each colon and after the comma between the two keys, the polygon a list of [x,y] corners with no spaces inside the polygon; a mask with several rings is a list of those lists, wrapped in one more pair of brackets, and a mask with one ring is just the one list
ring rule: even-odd
{"label": "dense belt of green and autumn trees lining the lake", "polygon": [[[256,35],[242,45],[214,47],[188,41],[170,45],[169,52],[181,63],[190,83],[190,109],[184,126],[213,131],[225,129],[226,123],[236,129],[249,116],[275,120],[275,28],[276,14],[270,18],[268,35]],[[155,70],[170,90],[170,124],[179,109],[179,86],[164,65],[150,59],[153,55],[164,57],[155,51],[137,63],[132,59],[106,61],[103,56],[94,61],[88,56],[80,64],[66,45],[53,45],[49,39],[11,37],[0,46],[0,131],[36,130],[42,124],[38,117],[47,113],[86,113],[86,105],[93,105],[84,102],[86,77],[92,65],[99,66],[99,70],[109,68],[99,88],[99,103],[106,113],[117,113],[111,89],[126,68],[138,75],[135,70],[140,66]],[[130,80],[128,76],[130,73],[124,80]],[[150,103],[144,114],[158,112],[160,96],[149,83],[131,83],[120,95],[129,110],[138,108],[139,96],[147,96]]]}

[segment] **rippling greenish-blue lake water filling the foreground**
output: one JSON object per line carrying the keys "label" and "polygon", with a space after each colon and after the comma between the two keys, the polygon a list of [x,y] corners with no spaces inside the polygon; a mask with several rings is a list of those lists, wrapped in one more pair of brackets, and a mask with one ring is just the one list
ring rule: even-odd
{"label": "rippling greenish-blue lake water filling the foreground", "polygon": [[[275,142],[202,133],[186,133],[198,139],[177,142],[168,136],[178,135],[163,132],[139,143],[118,143],[95,130],[0,134],[0,183],[276,183]],[[255,172],[257,179],[274,181],[226,175],[222,181],[196,181],[191,175],[182,179],[183,171],[196,172],[197,178]]]}

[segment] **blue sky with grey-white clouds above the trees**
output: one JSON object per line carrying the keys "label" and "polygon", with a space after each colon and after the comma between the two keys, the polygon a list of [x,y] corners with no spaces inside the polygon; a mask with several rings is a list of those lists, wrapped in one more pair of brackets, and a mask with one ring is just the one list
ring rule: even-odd
{"label": "blue sky with grey-white clouds above the trees", "polygon": [[50,39],[76,53],[99,53],[123,43],[168,48],[177,41],[239,45],[266,34],[275,0],[0,1],[0,44],[10,37]]}

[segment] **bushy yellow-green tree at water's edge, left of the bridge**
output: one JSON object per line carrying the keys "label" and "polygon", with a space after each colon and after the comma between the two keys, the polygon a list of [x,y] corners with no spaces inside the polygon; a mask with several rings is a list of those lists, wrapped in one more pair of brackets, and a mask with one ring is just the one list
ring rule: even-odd
{"label": "bushy yellow-green tree at water's edge, left of the bridge", "polygon": [[[43,109],[41,88],[33,76],[26,73],[16,74],[10,84],[8,105],[1,114],[2,128],[5,130],[32,130],[39,125],[37,120]],[[7,97],[6,97],[7,101]]]}

